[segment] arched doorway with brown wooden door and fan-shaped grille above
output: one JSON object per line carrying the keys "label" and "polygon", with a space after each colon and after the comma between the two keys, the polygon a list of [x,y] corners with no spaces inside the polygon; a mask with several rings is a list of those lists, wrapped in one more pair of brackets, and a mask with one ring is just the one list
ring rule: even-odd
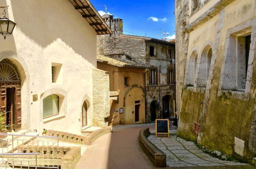
{"label": "arched doorway with brown wooden door and fan-shaped grille above", "polygon": [[21,76],[17,67],[9,59],[0,62],[0,107],[2,116],[5,117],[4,125],[8,131],[21,130]]}

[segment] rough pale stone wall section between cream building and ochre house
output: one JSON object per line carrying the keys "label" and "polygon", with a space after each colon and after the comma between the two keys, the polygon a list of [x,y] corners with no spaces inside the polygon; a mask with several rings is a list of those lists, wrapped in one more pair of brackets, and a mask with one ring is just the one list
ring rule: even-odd
{"label": "rough pale stone wall section between cream building and ochre house", "polygon": [[109,117],[109,73],[92,70],[93,86],[93,125],[105,128]]}

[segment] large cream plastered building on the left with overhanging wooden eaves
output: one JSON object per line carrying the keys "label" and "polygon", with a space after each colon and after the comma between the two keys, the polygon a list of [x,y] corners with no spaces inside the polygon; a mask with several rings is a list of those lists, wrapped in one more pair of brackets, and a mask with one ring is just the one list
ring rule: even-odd
{"label": "large cream plastered building on the left with overhanging wooden eaves", "polygon": [[107,126],[109,73],[96,69],[96,35],[111,30],[91,3],[5,0],[0,6],[9,6],[6,16],[17,24],[11,36],[0,37],[0,105],[8,130],[81,134]]}

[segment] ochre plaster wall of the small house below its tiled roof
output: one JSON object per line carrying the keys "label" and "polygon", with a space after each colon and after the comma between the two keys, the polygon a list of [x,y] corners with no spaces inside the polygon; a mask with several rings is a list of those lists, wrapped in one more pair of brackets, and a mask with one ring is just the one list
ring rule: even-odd
{"label": "ochre plaster wall of the small house below its tiled roof", "polygon": [[[140,122],[145,122],[144,72],[141,68],[119,68],[103,62],[97,62],[97,68],[110,74],[110,91],[118,93],[118,100],[110,101],[109,125],[135,123],[135,101],[140,100]],[[124,85],[124,77],[128,77],[128,86]],[[141,88],[137,88],[141,86]],[[120,109],[124,113],[120,114]]]}

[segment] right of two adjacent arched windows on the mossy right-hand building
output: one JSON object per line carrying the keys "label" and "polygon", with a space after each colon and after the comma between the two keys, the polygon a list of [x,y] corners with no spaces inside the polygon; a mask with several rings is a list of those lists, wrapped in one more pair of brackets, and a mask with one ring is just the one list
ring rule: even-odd
{"label": "right of two adjacent arched windows on the mossy right-hand building", "polygon": [[203,50],[201,60],[200,60],[198,79],[196,81],[197,87],[200,87],[200,88],[206,87],[206,83],[207,83],[207,79],[210,71],[211,57],[212,57],[212,49],[209,45],[207,45]]}

